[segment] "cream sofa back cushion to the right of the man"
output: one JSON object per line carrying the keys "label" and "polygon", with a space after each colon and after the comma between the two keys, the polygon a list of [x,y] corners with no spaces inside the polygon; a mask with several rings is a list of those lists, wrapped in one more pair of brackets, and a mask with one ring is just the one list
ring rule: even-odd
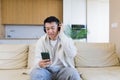
{"label": "cream sofa back cushion to the right of the man", "polygon": [[112,43],[82,43],[75,41],[78,53],[75,57],[76,67],[117,66],[118,56]]}

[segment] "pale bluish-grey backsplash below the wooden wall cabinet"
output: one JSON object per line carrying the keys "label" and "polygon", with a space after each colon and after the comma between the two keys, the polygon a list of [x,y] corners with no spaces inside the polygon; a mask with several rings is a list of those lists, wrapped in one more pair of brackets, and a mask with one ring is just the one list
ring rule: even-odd
{"label": "pale bluish-grey backsplash below the wooden wall cabinet", "polygon": [[43,26],[5,25],[5,38],[40,38]]}

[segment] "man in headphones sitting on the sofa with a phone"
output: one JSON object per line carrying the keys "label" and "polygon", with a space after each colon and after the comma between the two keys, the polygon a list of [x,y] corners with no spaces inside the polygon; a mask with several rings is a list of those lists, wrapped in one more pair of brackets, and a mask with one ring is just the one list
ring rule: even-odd
{"label": "man in headphones sitting on the sofa with a phone", "polygon": [[[31,72],[31,80],[81,80],[74,68],[76,48],[61,28],[59,19],[54,16],[44,20],[46,34],[36,45],[35,68]],[[49,52],[50,59],[42,59],[41,52]]]}

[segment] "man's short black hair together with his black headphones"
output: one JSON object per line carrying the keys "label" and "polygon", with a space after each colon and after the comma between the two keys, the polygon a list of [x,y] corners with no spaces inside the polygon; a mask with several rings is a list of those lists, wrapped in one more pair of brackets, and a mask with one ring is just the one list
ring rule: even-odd
{"label": "man's short black hair together with his black headphones", "polygon": [[[45,23],[51,23],[51,22],[56,22],[56,24],[59,26],[60,24],[60,20],[58,18],[56,18],[55,16],[49,16],[44,20],[44,31],[45,30]],[[58,27],[58,31],[60,31],[60,27]]]}

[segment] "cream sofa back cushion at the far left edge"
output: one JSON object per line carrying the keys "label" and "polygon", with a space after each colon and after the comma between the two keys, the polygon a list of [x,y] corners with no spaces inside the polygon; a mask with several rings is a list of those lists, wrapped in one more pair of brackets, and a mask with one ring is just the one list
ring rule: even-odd
{"label": "cream sofa back cushion at the far left edge", "polygon": [[18,69],[27,66],[28,45],[1,44],[0,69]]}

